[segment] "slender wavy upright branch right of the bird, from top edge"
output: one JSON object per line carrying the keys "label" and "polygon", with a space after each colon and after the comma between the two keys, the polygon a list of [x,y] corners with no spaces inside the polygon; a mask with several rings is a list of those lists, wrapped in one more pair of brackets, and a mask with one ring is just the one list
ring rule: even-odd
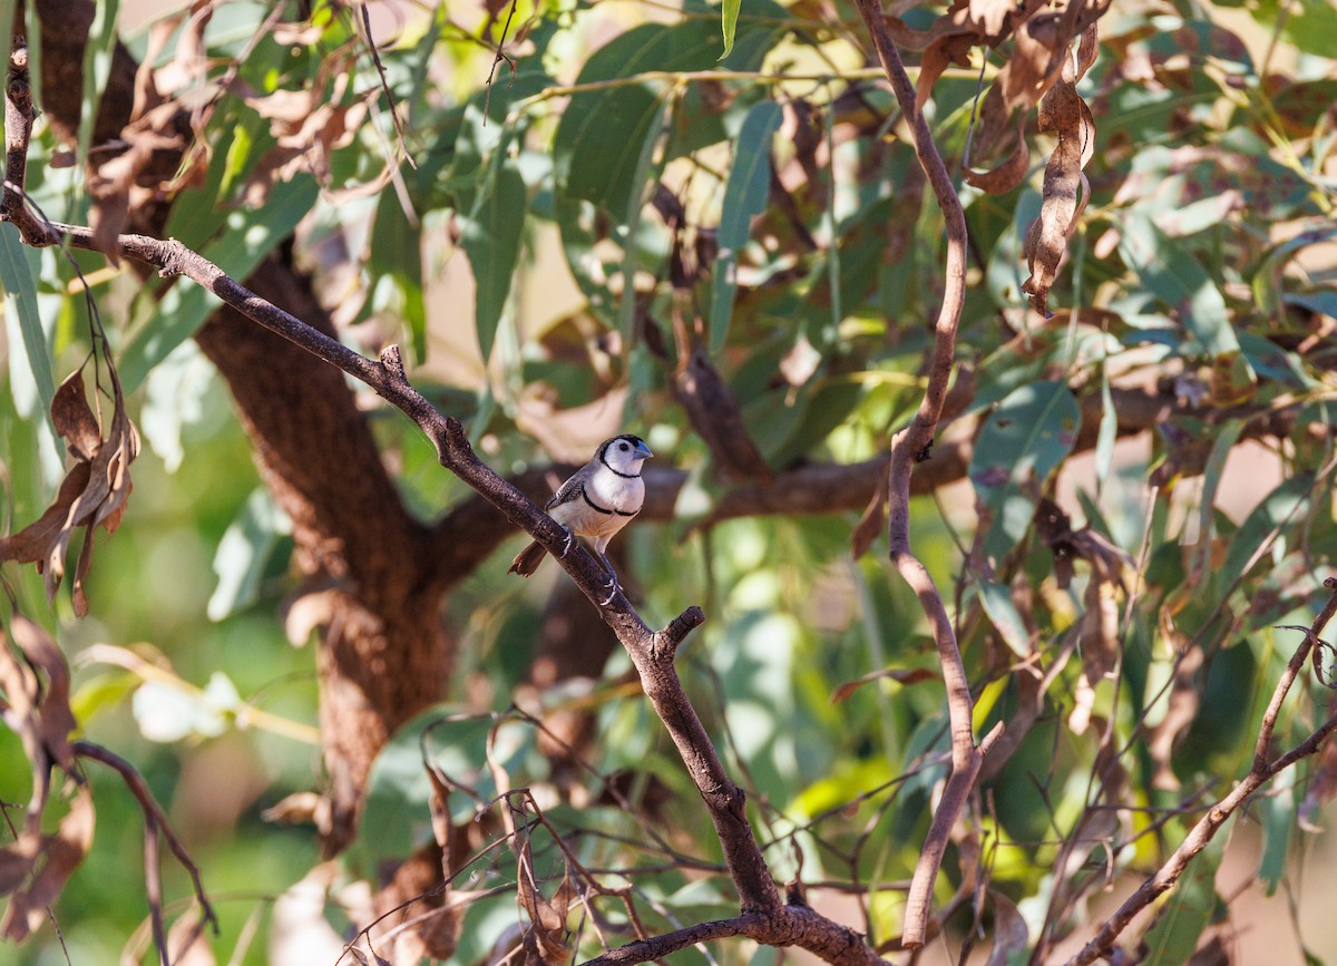
{"label": "slender wavy upright branch right of the bird, from top edge", "polygon": [[939,308],[933,325],[933,355],[929,360],[928,388],[920,403],[919,412],[908,427],[892,439],[892,458],[888,470],[888,539],[890,555],[897,571],[919,597],[920,606],[933,630],[937,644],[939,662],[943,666],[943,682],[947,686],[947,706],[952,728],[952,775],[947,780],[943,799],[939,801],[933,822],[929,826],[924,851],[915,867],[910,894],[905,902],[905,925],[902,945],[919,949],[924,945],[929,921],[929,903],[933,896],[933,883],[937,879],[943,854],[947,851],[952,827],[965,808],[967,799],[975,787],[975,779],[984,764],[988,745],[997,739],[1001,722],[989,733],[980,747],[975,745],[975,732],[971,717],[973,701],[971,684],[961,662],[961,652],[956,642],[952,621],[943,603],[943,595],[933,583],[928,570],[913,554],[909,546],[909,495],[910,471],[933,443],[937,423],[943,415],[948,384],[952,379],[952,357],[956,349],[956,328],[965,302],[965,254],[967,231],[965,211],[956,195],[952,178],[933,143],[928,122],[916,106],[915,86],[910,83],[901,55],[896,50],[886,20],[882,16],[880,0],[858,0],[858,11],[873,39],[877,59],[896,92],[901,114],[915,132],[915,154],[920,167],[928,177],[933,194],[947,225],[947,264],[944,266],[943,305]]}

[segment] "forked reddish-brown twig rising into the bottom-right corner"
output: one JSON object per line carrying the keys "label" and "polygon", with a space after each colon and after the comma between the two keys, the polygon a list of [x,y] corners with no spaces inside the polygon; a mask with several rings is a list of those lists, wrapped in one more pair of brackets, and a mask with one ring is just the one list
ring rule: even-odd
{"label": "forked reddish-brown twig rising into the bottom-right corner", "polygon": [[1277,681],[1275,689],[1271,693],[1271,701],[1267,704],[1266,712],[1263,712],[1262,724],[1258,728],[1258,743],[1254,751],[1254,760],[1249,768],[1249,773],[1231,789],[1231,792],[1218,801],[1215,805],[1207,809],[1207,812],[1198,820],[1198,823],[1189,831],[1179,847],[1166,859],[1165,864],[1157,870],[1155,875],[1146,879],[1131,896],[1112,916],[1110,916],[1100,931],[1095,934],[1095,938],[1088,942],[1080,953],[1078,953],[1072,959],[1068,961],[1068,966],[1087,966],[1088,963],[1099,959],[1104,953],[1114,946],[1114,942],[1119,938],[1119,934],[1127,929],[1128,923],[1132,922],[1134,916],[1143,908],[1150,906],[1158,896],[1167,892],[1183,875],[1183,871],[1189,867],[1189,863],[1201,852],[1207,844],[1215,838],[1217,832],[1226,820],[1239,809],[1249,796],[1253,795],[1263,783],[1275,777],[1285,769],[1290,768],[1293,764],[1314,755],[1324,740],[1337,731],[1337,713],[1332,714],[1322,725],[1318,727],[1308,739],[1301,741],[1298,745],[1292,748],[1289,752],[1281,757],[1269,761],[1267,757],[1271,753],[1271,739],[1273,732],[1277,727],[1277,716],[1281,710],[1282,701],[1286,700],[1286,694],[1290,692],[1290,686],[1296,682],[1296,678],[1304,670],[1305,661],[1309,658],[1309,650],[1314,646],[1314,641],[1322,634],[1324,627],[1332,621],[1333,615],[1337,614],[1337,578],[1329,577],[1324,581],[1324,586],[1332,590],[1328,602],[1324,609],[1314,618],[1313,625],[1305,634],[1304,642],[1296,649],[1296,653],[1290,656],[1290,661],[1286,664],[1286,670],[1282,672],[1281,680]]}

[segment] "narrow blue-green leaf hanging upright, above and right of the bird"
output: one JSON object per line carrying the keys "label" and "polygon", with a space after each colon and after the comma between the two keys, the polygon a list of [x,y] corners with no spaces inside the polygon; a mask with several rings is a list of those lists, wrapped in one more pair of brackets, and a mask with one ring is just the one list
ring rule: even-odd
{"label": "narrow blue-green leaf hanging upright, above and right of the bird", "polygon": [[[726,4],[727,7],[727,4]],[[737,16],[737,9],[734,11]],[[783,111],[774,100],[755,104],[743,120],[729,170],[719,215],[719,254],[711,274],[710,351],[719,352],[729,334],[729,321],[738,293],[738,253],[751,234],[751,221],[766,210],[770,189],[770,139],[779,130]]]}

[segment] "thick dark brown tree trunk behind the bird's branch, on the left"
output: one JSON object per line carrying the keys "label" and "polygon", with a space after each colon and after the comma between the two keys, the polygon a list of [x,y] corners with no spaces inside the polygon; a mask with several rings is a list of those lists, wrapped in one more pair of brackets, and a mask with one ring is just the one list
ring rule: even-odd
{"label": "thick dark brown tree trunk behind the bird's branch, on the left", "polygon": [[[41,110],[68,139],[79,124],[94,7],[37,0],[32,8],[41,29]],[[135,74],[128,52],[118,48],[95,144],[118,138],[130,120]],[[160,234],[167,210],[166,203],[136,209],[127,229]],[[249,285],[330,330],[286,248],[262,262]],[[429,530],[404,510],[340,372],[230,309],[215,313],[197,340],[231,391],[261,475],[293,519],[299,571],[334,587],[317,666],[332,780],[333,822],[324,831],[326,848],[337,851],[354,831],[376,752],[444,694],[452,649],[439,613],[443,571],[422,566]]]}

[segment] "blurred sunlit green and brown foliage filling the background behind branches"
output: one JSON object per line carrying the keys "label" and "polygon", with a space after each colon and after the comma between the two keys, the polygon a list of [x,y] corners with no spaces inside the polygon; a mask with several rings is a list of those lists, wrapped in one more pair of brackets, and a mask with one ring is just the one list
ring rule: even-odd
{"label": "blurred sunlit green and brown foliage filling the background behind branches", "polygon": [[[698,0],[370,4],[401,142],[357,7],[310,4],[305,21],[302,4],[195,7],[191,20],[119,4],[120,36],[160,90],[210,107],[168,234],[237,277],[291,246],[341,337],[372,352],[402,343],[414,381],[503,474],[584,462],[622,429],[648,440],[656,467],[686,471],[674,519],[619,538],[640,610],[658,626],[687,603],[706,609],[679,666],[777,878],[809,883],[814,904],[872,943],[894,938],[948,747],[915,598],[885,541],[850,558],[862,502],[818,491],[779,502],[794,511],[717,514],[741,486],[877,458],[923,392],[941,218],[853,8],[745,0],[722,56],[721,11]],[[927,29],[943,9],[889,12]],[[95,50],[116,31],[103,36]],[[1318,609],[1337,550],[1334,36],[1324,0],[1115,5],[1079,87],[1096,140],[1050,318],[1025,304],[1021,246],[1052,138],[1032,116],[1027,177],[1005,194],[959,181],[972,260],[955,409],[935,452],[964,466],[916,498],[912,545],[955,615],[977,732],[1001,720],[1011,739],[969,816],[977,866],[951,854],[939,902],[987,883],[1001,896],[983,918],[991,941],[1015,904],[1028,939],[1012,962],[1084,942],[1106,883],[1128,891],[1247,771],[1298,644],[1273,626],[1308,625]],[[972,108],[1005,56],[975,48],[925,104],[957,177],[968,147],[975,159],[997,147],[975,138]],[[86,222],[84,158],[52,165],[64,146],[39,135],[29,194]],[[203,870],[222,925],[214,961],[334,962],[338,943],[322,959],[316,939],[314,958],[285,958],[285,930],[320,916],[282,896],[321,856],[314,832],[262,812],[321,785],[317,684],[310,629],[285,610],[289,524],[190,341],[214,304],[87,253],[13,250],[0,392],[11,530],[41,514],[62,475],[44,412],[90,351],[80,276],[147,443],[124,524],[99,538],[91,615],[75,619],[63,594],[48,606],[32,569],[9,565],[15,609],[74,664],[83,735],[135,763]],[[694,408],[681,379],[694,351],[737,401],[763,472],[749,479],[747,454],[703,431],[714,411],[699,397]],[[361,397],[416,514],[468,496],[414,427]],[[580,749],[590,771],[575,791],[554,784],[513,702],[564,578],[550,565],[531,583],[507,579],[504,555],[479,559],[445,601],[459,638],[451,693],[385,748],[358,840],[314,874],[317,894],[334,890],[332,931],[312,934],[322,941],[365,925],[346,911],[365,904],[358,882],[431,839],[424,748],[473,788],[451,799],[461,824],[499,791],[489,756],[512,787],[535,788],[587,868],[634,884],[651,930],[734,910],[695,791],[620,654],[598,681],[527,698],[527,713],[596,721]],[[1278,748],[1326,705],[1317,686],[1294,696]],[[1199,858],[1206,871],[1144,937],[1151,961],[1213,943],[1239,957],[1247,937],[1231,929],[1273,937],[1269,962],[1337,954],[1300,884],[1329,878],[1316,844],[1334,768],[1332,755],[1301,764],[1237,820],[1245,844],[1229,875],[1213,879],[1219,852]],[[17,736],[0,729],[11,823],[28,775]],[[7,961],[124,962],[123,947],[154,961],[138,808],[118,780],[88,776],[96,839],[52,907],[59,934],[48,925]],[[626,776],[636,807],[603,796],[600,776]],[[47,820],[59,817],[53,807]],[[533,848],[555,887],[550,831]],[[457,883],[477,898],[451,962],[479,962],[521,921],[515,876],[495,850]],[[175,867],[166,894],[180,914],[190,886]],[[600,915],[630,938],[616,910]],[[571,926],[580,955],[602,949],[588,918],[572,910]],[[931,955],[961,949],[969,900],[948,926],[947,954]],[[751,954],[743,942],[713,950]]]}

